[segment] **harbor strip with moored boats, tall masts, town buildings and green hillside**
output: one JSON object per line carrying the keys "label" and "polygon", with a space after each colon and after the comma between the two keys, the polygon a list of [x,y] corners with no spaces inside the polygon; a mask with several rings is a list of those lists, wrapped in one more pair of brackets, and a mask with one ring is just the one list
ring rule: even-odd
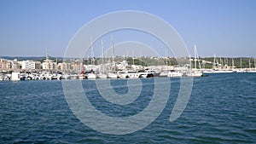
{"label": "harbor strip with moored boats, tall masts, town buildings and green hillside", "polygon": [[[181,78],[181,77],[207,77],[212,73],[250,72],[256,73],[256,59],[248,60],[247,66],[243,66],[242,58],[239,66],[235,66],[234,58],[217,58],[212,61],[201,59],[196,45],[194,57],[170,58],[165,57],[105,57],[102,46],[102,57],[94,57],[93,46],[90,48],[90,56],[87,59],[62,59],[50,58],[47,50],[42,62],[38,60],[4,60],[0,59],[0,81],[20,80],[65,80],[65,79],[96,79],[96,78]],[[187,61],[183,65],[179,61]],[[236,60],[238,60],[236,58]],[[146,62],[147,61],[147,62]],[[148,62],[150,61],[150,62]],[[149,64],[150,63],[150,64]]]}

